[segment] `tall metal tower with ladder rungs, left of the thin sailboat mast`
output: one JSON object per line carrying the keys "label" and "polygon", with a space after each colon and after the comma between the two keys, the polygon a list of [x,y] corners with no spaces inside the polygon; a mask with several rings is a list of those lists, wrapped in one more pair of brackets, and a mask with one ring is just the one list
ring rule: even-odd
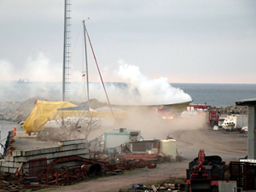
{"label": "tall metal tower with ladder rungs, left of the thin sailboat mast", "polygon": [[65,0],[62,101],[68,100],[71,66],[71,0]]}

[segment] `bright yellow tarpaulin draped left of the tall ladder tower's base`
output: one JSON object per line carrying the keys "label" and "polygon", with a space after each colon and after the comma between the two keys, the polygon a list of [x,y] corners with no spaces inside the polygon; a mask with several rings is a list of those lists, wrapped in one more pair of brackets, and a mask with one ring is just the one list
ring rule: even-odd
{"label": "bright yellow tarpaulin draped left of the tall ladder tower's base", "polygon": [[71,102],[46,102],[38,101],[32,113],[23,124],[26,133],[43,131],[44,125],[53,117],[52,113],[57,112],[57,108],[76,107]]}

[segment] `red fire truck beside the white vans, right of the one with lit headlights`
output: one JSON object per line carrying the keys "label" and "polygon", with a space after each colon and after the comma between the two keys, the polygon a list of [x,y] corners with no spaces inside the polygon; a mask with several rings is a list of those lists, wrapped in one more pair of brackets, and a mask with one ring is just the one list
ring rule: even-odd
{"label": "red fire truck beside the white vans, right of the one with lit headlights", "polygon": [[212,109],[210,105],[205,104],[190,104],[187,107],[187,111],[199,111],[203,113],[207,113],[207,123],[211,127],[214,125],[218,125],[218,110],[217,109]]}

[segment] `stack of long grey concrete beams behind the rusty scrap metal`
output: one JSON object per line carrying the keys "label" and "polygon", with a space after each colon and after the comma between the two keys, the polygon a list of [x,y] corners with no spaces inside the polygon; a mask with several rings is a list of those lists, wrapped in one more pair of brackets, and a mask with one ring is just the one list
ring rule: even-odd
{"label": "stack of long grey concrete beams behind the rusty scrap metal", "polygon": [[[35,171],[32,168],[33,162],[47,163],[61,158],[63,156],[77,155],[83,158],[89,158],[89,143],[83,140],[78,142],[66,143],[45,143],[34,139],[22,139],[13,136],[13,131],[6,141],[4,159],[0,160],[0,172],[15,173],[17,168],[22,165],[21,173],[31,173]],[[49,146],[50,145],[50,146]],[[43,164],[43,165],[44,165]]]}

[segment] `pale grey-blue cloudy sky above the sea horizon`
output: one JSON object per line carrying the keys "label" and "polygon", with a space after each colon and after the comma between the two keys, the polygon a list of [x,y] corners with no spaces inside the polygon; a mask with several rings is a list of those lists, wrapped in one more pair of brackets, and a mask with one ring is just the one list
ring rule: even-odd
{"label": "pale grey-blue cloudy sky above the sea horizon", "polygon": [[[71,81],[84,71],[82,20],[106,82],[124,66],[169,83],[256,84],[256,1],[72,2]],[[64,1],[0,0],[0,80],[61,82]],[[89,79],[100,81],[88,47]]]}

